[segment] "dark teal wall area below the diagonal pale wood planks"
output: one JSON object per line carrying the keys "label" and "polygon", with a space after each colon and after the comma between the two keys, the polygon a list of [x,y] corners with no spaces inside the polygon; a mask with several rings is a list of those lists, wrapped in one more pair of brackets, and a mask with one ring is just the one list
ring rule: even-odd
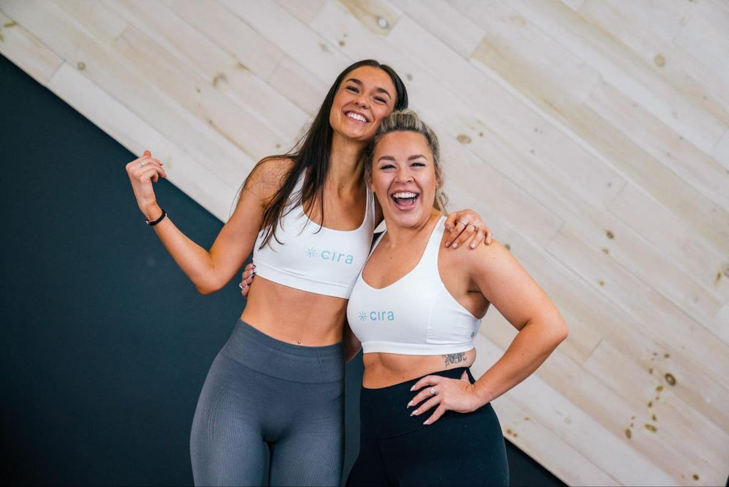
{"label": "dark teal wall area below the diagonal pale wood planks", "polygon": [[[0,103],[2,483],[191,484],[192,415],[243,309],[237,283],[199,295],[136,208],[134,156],[2,56]],[[172,184],[156,188],[209,246],[219,220]],[[358,357],[346,467],[361,374]],[[560,485],[507,447],[512,485]]]}

